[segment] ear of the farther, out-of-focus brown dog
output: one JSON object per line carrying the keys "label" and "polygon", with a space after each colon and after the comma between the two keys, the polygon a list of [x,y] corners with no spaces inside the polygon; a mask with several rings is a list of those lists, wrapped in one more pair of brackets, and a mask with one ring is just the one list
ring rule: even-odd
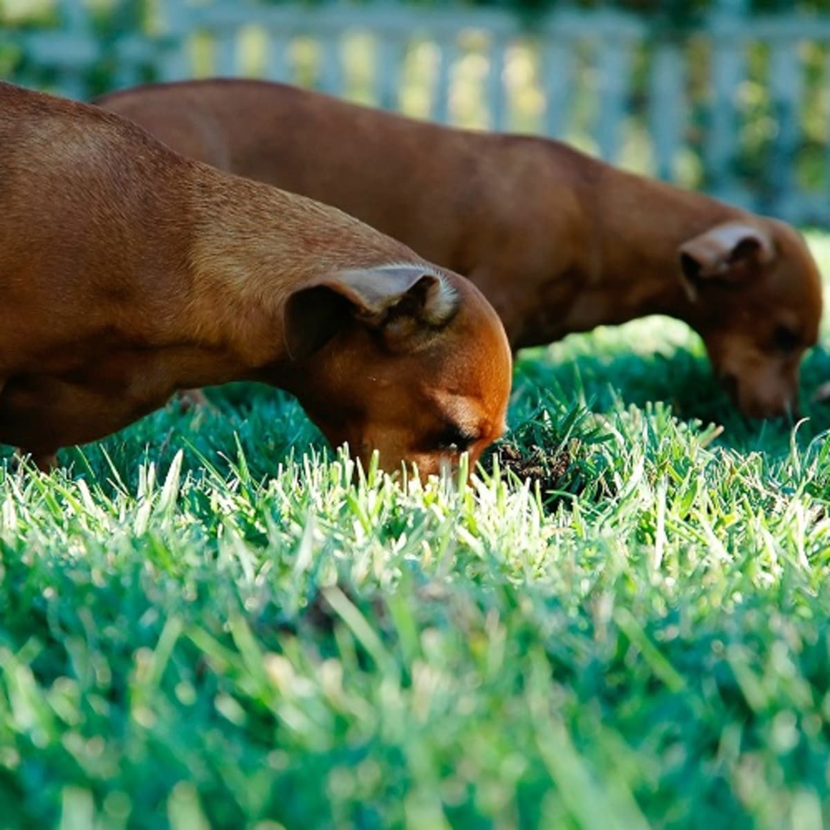
{"label": "ear of the farther, out-of-focus brown dog", "polygon": [[743,222],[717,225],[678,249],[686,290],[691,299],[704,280],[736,283],[775,256],[772,240],[757,227]]}

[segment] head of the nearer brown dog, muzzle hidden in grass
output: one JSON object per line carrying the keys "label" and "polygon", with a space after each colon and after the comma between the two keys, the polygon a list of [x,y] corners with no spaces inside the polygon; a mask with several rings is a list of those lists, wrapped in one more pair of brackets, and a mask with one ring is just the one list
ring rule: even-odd
{"label": "head of the nearer brown dog, muzzle hidden in grass", "polygon": [[511,357],[496,312],[471,283],[432,266],[326,276],[285,307],[300,403],[335,447],[387,471],[472,466],[505,428]]}

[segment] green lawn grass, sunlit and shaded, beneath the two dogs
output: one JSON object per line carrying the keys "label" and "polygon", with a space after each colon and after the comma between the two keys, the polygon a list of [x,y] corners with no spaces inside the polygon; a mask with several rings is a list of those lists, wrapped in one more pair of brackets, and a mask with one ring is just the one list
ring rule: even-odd
{"label": "green lawn grass, sunlit and shaded, beneath the two dogs", "polygon": [[400,490],[212,399],[0,472],[2,828],[827,821],[830,408],[746,424],[643,320],[520,360],[553,491]]}

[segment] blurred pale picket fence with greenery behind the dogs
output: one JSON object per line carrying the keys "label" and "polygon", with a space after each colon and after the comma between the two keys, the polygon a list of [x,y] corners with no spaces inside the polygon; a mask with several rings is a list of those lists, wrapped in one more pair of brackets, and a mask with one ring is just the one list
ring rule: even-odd
{"label": "blurred pale picket fence with greenery behind the dogs", "polygon": [[547,134],[830,224],[830,2],[0,0],[0,76],[85,99],[260,76]]}

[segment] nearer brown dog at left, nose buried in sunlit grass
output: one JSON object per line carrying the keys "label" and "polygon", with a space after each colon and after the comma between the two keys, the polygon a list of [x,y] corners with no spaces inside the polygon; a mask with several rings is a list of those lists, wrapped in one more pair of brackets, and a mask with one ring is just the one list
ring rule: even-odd
{"label": "nearer brown dog at left, nose buried in sunlit grass", "polygon": [[96,107],[0,84],[0,251],[0,441],[41,466],[233,379],[386,469],[504,429],[510,348],[468,281]]}

